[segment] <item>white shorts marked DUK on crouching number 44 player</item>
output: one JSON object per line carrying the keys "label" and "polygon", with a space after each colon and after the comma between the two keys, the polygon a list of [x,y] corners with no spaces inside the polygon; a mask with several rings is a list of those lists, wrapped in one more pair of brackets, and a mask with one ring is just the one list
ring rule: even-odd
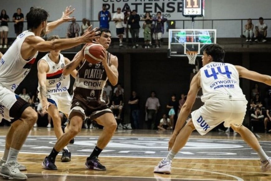
{"label": "white shorts marked DUK on crouching number 44 player", "polygon": [[241,126],[245,117],[247,100],[209,99],[198,110],[191,113],[196,130],[205,135],[224,122],[225,127]]}

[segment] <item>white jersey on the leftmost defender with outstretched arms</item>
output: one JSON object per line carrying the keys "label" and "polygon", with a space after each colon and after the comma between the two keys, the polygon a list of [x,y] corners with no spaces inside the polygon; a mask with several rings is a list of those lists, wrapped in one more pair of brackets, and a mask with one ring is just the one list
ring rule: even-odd
{"label": "white jersey on the leftmost defender with outstretched arms", "polygon": [[12,92],[29,73],[38,55],[37,51],[29,60],[22,58],[21,46],[28,36],[35,36],[35,34],[29,31],[22,32],[0,59],[0,84]]}

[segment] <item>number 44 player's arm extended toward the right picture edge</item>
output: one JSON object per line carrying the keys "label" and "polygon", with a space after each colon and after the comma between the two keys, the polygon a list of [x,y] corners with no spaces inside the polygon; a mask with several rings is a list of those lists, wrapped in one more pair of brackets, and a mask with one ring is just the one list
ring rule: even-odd
{"label": "number 44 player's arm extended toward the right picture edge", "polygon": [[255,71],[250,71],[242,66],[235,66],[235,67],[240,77],[250,79],[252,81],[262,82],[264,84],[271,86],[271,76],[260,74]]}

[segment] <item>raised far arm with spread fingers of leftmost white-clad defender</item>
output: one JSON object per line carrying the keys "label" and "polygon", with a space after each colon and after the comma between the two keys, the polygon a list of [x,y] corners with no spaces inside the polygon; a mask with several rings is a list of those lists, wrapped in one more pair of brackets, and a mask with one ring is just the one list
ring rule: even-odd
{"label": "raised far arm with spread fingers of leftmost white-clad defender", "polygon": [[47,24],[45,34],[48,34],[48,33],[52,32],[60,24],[74,19],[74,17],[69,17],[69,15],[72,14],[75,9],[70,10],[70,8],[71,8],[71,6],[66,7],[65,11],[62,12],[62,17],[60,19]]}

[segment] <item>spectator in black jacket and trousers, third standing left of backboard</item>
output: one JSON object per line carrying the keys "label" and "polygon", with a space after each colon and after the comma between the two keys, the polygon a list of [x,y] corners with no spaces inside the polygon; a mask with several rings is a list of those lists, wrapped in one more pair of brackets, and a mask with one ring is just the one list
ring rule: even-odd
{"label": "spectator in black jacket and trousers, third standing left of backboard", "polygon": [[140,16],[137,14],[136,10],[133,10],[128,20],[128,23],[131,25],[130,32],[132,37],[133,48],[138,47],[139,28],[140,28],[139,21]]}

